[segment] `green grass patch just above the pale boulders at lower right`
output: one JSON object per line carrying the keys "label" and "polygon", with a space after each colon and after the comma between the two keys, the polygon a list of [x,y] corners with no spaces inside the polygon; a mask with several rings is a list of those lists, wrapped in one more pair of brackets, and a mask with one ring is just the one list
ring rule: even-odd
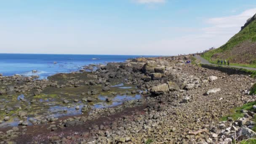
{"label": "green grass patch just above the pale boulders at lower right", "polygon": [[[232,120],[237,120],[239,117],[243,117],[244,114],[241,112],[241,109],[248,110],[251,112],[256,112],[256,109],[253,109],[253,105],[256,105],[256,101],[244,104],[242,107],[236,107],[233,109],[230,109],[230,114],[224,117],[221,117],[220,121],[227,121],[228,117],[232,117]],[[253,117],[253,122],[256,122],[256,116]],[[256,132],[256,125],[252,128],[253,131]]]}

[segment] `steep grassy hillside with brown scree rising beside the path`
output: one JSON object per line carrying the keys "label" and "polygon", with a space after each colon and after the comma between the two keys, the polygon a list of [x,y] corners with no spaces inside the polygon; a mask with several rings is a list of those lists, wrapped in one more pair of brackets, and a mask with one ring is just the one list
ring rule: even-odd
{"label": "steep grassy hillside with brown scree rising beside the path", "polygon": [[248,19],[241,31],[226,44],[204,53],[203,58],[211,63],[227,59],[230,63],[256,65],[256,15]]}

